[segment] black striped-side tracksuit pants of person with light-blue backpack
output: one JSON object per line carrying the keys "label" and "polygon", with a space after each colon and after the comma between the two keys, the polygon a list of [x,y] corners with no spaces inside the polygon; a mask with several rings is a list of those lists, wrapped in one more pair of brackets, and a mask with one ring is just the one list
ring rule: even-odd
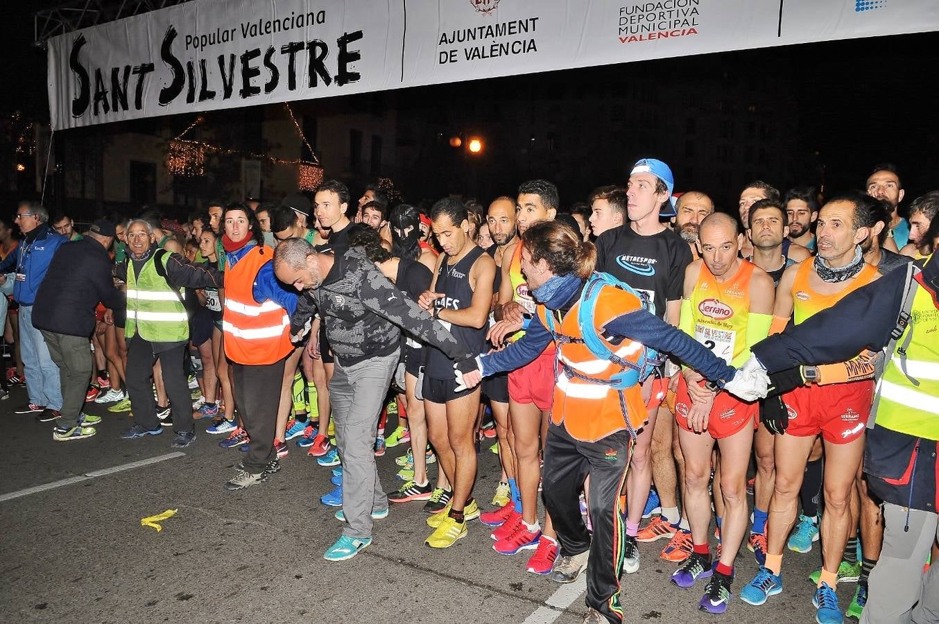
{"label": "black striped-side tracksuit pants of person with light-blue backpack", "polygon": [[[587,606],[610,622],[623,621],[620,572],[626,535],[620,490],[630,455],[629,434],[622,431],[597,442],[581,442],[561,426],[550,424],[545,443],[542,491],[545,508],[558,532],[561,554],[590,550],[587,565]],[[590,475],[593,540],[580,516],[578,497]]]}

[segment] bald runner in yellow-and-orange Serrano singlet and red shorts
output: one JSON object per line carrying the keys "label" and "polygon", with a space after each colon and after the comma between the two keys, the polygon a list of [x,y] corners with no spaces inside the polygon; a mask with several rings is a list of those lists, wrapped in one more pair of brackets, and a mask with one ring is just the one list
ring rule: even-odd
{"label": "bald runner in yellow-and-orange Serrano singlet and red shorts", "polygon": [[[773,318],[773,279],[740,257],[744,236],[737,221],[713,213],[700,222],[701,257],[685,269],[685,296],[679,327],[728,364],[740,366],[750,346],[769,333]],[[700,609],[723,613],[730,600],[733,559],[747,533],[747,467],[759,409],[726,391],[704,384],[700,373],[685,370],[678,382],[675,419],[685,456],[685,514],[691,525],[691,556],[671,575],[690,587],[711,575]],[[711,500],[711,451],[720,449],[720,560],[713,566],[708,538]],[[712,567],[713,566],[713,567]],[[713,569],[713,575],[711,574]],[[725,591],[726,590],[726,591]]]}

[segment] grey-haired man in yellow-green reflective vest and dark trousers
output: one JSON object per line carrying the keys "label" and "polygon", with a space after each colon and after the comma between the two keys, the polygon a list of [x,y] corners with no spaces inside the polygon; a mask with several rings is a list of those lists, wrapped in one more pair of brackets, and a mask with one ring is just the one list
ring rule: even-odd
{"label": "grey-haired man in yellow-green reflective vest and dark trousers", "polygon": [[181,288],[221,288],[214,266],[194,266],[178,253],[160,249],[152,226],[135,219],[127,226],[129,257],[116,266],[127,283],[127,389],[134,425],[121,434],[125,440],[162,434],[153,398],[153,364],[160,360],[163,383],[173,408],[173,447],[183,449],[195,440],[192,400],[183,369],[189,341],[189,318]]}

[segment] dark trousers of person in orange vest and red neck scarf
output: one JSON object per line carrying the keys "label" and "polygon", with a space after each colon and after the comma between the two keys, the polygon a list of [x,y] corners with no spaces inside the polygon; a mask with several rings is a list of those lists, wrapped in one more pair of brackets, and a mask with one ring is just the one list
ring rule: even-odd
{"label": "dark trousers of person in orange vest and red neck scarf", "polygon": [[273,364],[232,362],[235,403],[238,405],[241,424],[250,439],[244,469],[254,475],[264,472],[268,463],[277,457],[274,434],[281,388],[284,386],[285,362],[286,358]]}

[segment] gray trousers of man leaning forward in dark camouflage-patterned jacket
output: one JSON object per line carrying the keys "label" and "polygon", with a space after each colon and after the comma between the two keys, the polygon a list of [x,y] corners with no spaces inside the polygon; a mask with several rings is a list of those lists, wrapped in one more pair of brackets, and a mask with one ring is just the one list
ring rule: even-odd
{"label": "gray trousers of man leaning forward in dark camouflage-patterned jacket", "polygon": [[350,538],[371,538],[372,511],[388,509],[375,464],[375,435],[397,363],[397,353],[352,366],[337,360],[332,373],[332,419],[343,461],[343,534]]}

